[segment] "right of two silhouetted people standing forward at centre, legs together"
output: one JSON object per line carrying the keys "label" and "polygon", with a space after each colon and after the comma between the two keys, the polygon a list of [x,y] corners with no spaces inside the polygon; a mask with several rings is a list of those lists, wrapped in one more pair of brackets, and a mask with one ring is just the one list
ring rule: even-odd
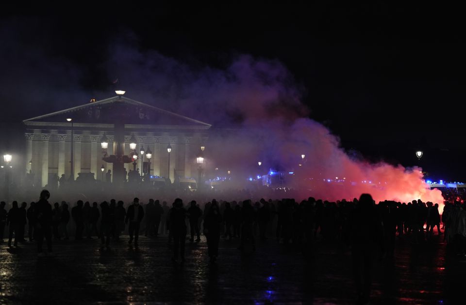
{"label": "right of two silhouetted people standing forward at centre, legs together", "polygon": [[215,262],[218,256],[218,242],[222,227],[222,215],[217,204],[212,204],[209,213],[204,217],[204,234],[207,238],[207,248],[211,262]]}

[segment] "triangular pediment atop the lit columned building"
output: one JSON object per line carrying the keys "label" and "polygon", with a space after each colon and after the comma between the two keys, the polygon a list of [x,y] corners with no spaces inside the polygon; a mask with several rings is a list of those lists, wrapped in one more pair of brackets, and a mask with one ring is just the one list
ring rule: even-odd
{"label": "triangular pediment atop the lit columned building", "polygon": [[135,101],[124,96],[114,96],[93,103],[72,107],[57,112],[24,120],[33,123],[64,123],[67,118],[80,124],[113,124],[124,120],[132,125],[198,126],[211,125],[185,117],[155,106]]}

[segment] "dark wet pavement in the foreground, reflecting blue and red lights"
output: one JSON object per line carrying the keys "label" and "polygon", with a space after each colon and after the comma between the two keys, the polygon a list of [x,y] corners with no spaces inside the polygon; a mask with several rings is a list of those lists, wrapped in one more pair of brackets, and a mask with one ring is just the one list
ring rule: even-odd
{"label": "dark wet pavement in the foreground, reflecting blue and red lights", "polygon": [[[354,304],[348,248],[316,241],[312,257],[275,239],[242,257],[238,242],[220,241],[209,263],[204,237],[186,241],[186,262],[173,264],[167,237],[127,237],[110,250],[100,241],[54,243],[55,257],[37,258],[35,244],[1,244],[1,304]],[[412,244],[397,238],[394,259],[377,259],[371,304],[458,304],[466,260],[443,235]]]}

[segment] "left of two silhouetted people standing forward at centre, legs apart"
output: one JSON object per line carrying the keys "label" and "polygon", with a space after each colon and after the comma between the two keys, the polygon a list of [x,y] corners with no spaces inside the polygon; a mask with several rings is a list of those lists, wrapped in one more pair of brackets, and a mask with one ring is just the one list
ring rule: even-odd
{"label": "left of two silhouetted people standing forward at centre, legs apart", "polygon": [[183,200],[176,198],[173,207],[170,209],[170,233],[173,234],[173,261],[178,260],[178,247],[180,247],[180,257],[184,261],[184,242],[186,239],[186,210],[183,208]]}

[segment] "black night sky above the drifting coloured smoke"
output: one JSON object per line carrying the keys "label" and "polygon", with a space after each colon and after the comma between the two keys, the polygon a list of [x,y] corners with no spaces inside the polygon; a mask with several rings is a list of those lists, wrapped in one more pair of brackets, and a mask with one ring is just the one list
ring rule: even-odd
{"label": "black night sky above the drifting coloured smoke", "polygon": [[[339,136],[344,149],[410,166],[418,164],[420,148],[421,165],[433,178],[461,180],[466,152],[461,10],[387,3],[32,7],[4,10],[1,24],[2,37],[22,51],[40,50],[38,60],[46,56],[79,66],[73,86],[81,92],[108,90],[108,96],[115,75],[103,65],[109,44],[120,36],[131,36],[142,51],[156,50],[194,67],[227,68],[238,54],[278,60],[301,88],[310,117]],[[15,74],[13,64],[8,68],[0,72],[2,80]],[[12,83],[5,87],[4,100],[15,93]],[[15,103],[2,103],[2,126],[18,126],[31,116]],[[50,107],[43,109],[59,110]],[[8,127],[2,132],[12,134]]]}

